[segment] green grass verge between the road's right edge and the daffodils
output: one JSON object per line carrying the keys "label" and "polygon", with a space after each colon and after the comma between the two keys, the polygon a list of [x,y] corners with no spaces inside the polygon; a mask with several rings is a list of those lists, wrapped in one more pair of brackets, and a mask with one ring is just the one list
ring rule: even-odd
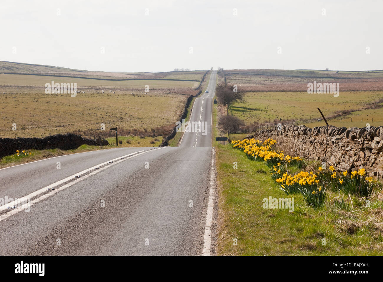
{"label": "green grass verge between the road's right edge and the daffodils", "polygon": [[[380,255],[376,213],[358,209],[354,213],[335,207],[308,208],[301,195],[286,196],[269,175],[264,162],[247,159],[231,145],[218,145],[217,170],[220,191],[218,254],[221,255]],[[233,162],[238,168],[233,168]],[[263,199],[295,199],[293,213],[264,209]],[[367,223],[371,219],[370,223]],[[340,221],[340,223],[338,223]],[[355,227],[354,226],[357,226]],[[353,233],[352,233],[353,232]],[[233,245],[237,238],[238,245]],[[326,246],[322,246],[322,238]]]}

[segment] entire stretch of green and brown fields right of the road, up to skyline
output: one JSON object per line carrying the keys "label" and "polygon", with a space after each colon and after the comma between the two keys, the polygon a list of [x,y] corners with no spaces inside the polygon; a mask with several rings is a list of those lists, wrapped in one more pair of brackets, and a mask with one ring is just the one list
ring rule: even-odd
{"label": "entire stretch of green and brown fields right of the road, up to skyline", "polygon": [[[250,69],[224,70],[223,74],[228,83],[247,92],[244,103],[229,107],[229,114],[247,125],[326,125],[318,107],[327,122],[337,127],[383,125],[383,71]],[[308,94],[307,84],[314,81],[339,83],[339,96]]]}

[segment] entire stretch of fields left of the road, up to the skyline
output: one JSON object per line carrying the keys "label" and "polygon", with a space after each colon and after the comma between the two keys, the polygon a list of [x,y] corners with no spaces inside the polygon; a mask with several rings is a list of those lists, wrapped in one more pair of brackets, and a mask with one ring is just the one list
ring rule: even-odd
{"label": "entire stretch of fields left of the road, up to the skyline", "polygon": [[[123,135],[131,135],[126,137],[130,144],[123,140],[127,147],[151,146],[149,141],[136,140],[139,137],[134,132],[126,133],[127,130],[170,131],[182,114],[187,97],[198,92],[196,88],[205,74],[205,71],[105,73],[1,61],[0,72],[3,73],[0,137],[45,137],[67,132],[108,137],[109,129],[117,126]],[[77,83],[81,93],[76,93],[76,97],[69,93],[46,94],[44,85],[51,81]],[[16,130],[12,130],[13,124]],[[101,124],[105,124],[103,132]],[[158,138],[154,145],[162,141],[162,137]]]}

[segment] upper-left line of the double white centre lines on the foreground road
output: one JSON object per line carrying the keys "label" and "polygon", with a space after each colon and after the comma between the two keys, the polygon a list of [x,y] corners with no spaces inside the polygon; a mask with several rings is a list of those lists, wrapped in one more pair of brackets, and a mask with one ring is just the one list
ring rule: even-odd
{"label": "upper-left line of the double white centre lines on the foreground road", "polygon": [[[159,148],[161,148],[161,147],[159,147]],[[146,151],[146,150],[141,150],[141,151],[138,151],[138,152],[129,153],[128,155],[124,155],[124,156],[122,156],[122,157],[114,158],[113,160],[109,160],[109,161],[100,163],[100,164],[98,164],[98,165],[95,165],[94,167],[87,168],[86,170],[83,170],[83,171],[81,171],[81,172],[77,172],[77,173],[75,173],[75,174],[73,174],[73,175],[70,175],[70,176],[68,176],[68,177],[66,177],[66,178],[64,178],[64,179],[62,179],[62,180],[59,180],[59,181],[57,181],[57,182],[55,182],[55,183],[52,183],[51,185],[48,185],[48,186],[46,186],[46,187],[43,187],[43,188],[41,188],[41,189],[39,189],[39,190],[37,190],[37,191],[34,191],[34,192],[28,194],[28,195],[26,195],[26,196],[23,196],[23,197],[21,197],[21,198],[18,198],[17,201],[12,201],[12,202],[10,202],[10,203],[6,203],[6,204],[3,205],[3,206],[0,206],[0,211],[3,211],[3,210],[5,210],[5,209],[7,209],[8,206],[16,206],[16,205],[17,205],[18,203],[20,203],[20,202],[24,202],[24,201],[26,201],[26,200],[28,200],[28,199],[31,199],[31,198],[33,198],[33,197],[35,197],[35,196],[37,196],[37,195],[39,195],[39,194],[41,194],[41,193],[46,192],[48,189],[55,188],[56,186],[59,186],[59,185],[61,185],[62,183],[65,183],[65,182],[67,182],[67,181],[69,181],[69,180],[73,180],[73,178],[75,178],[75,176],[78,176],[78,175],[82,175],[82,174],[84,174],[84,173],[87,173],[87,172],[89,172],[90,170],[94,170],[94,169],[97,168],[97,167],[101,167],[101,166],[103,166],[103,165],[106,165],[106,164],[109,163],[109,162],[114,162],[114,161],[120,160],[121,158],[124,158],[124,160],[125,160],[125,158],[126,158],[126,157],[129,157],[129,155],[137,155],[137,154],[142,153],[142,152],[145,152],[145,151]],[[151,150],[147,150],[146,152],[150,152],[150,151],[151,151]],[[133,157],[133,156],[132,156],[132,157]],[[128,158],[126,158],[126,159],[128,159]],[[99,170],[97,170],[97,171],[99,171]]]}

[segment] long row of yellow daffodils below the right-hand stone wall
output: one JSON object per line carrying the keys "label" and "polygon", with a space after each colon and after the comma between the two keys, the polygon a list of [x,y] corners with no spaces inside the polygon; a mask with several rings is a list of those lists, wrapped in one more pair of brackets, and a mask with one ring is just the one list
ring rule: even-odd
{"label": "long row of yellow daffodils below the right-hand stone wall", "polygon": [[[376,180],[366,176],[364,168],[351,173],[337,172],[333,166],[319,167],[318,172],[305,172],[289,174],[287,167],[296,166],[302,169],[304,160],[300,157],[284,155],[283,151],[275,150],[274,139],[260,140],[245,139],[232,141],[234,148],[244,151],[251,160],[264,161],[270,168],[272,179],[280,185],[280,189],[287,195],[300,193],[309,206],[321,208],[326,203],[326,190],[343,191],[345,195],[360,197],[371,196]],[[344,203],[337,203],[344,206]]]}

